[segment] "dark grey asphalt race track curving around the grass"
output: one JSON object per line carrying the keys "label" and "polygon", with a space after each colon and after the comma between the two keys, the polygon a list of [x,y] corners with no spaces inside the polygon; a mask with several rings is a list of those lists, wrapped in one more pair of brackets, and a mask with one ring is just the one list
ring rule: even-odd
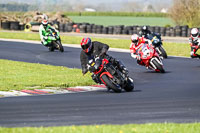
{"label": "dark grey asphalt race track curving around the grass", "polygon": [[[0,41],[0,59],[80,68],[80,49],[64,48],[48,52],[42,45]],[[200,122],[200,60],[169,57],[166,73],[159,74],[136,65],[129,53],[109,54],[129,69],[134,92],[0,98],[0,126]]]}

